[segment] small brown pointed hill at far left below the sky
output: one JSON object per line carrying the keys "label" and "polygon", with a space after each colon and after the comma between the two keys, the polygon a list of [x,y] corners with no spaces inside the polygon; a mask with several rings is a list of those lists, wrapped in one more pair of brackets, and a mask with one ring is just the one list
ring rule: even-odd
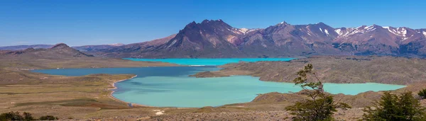
{"label": "small brown pointed hill at far left below the sky", "polygon": [[23,58],[34,58],[34,59],[66,59],[66,58],[75,58],[75,57],[93,57],[92,54],[86,54],[75,50],[74,48],[65,45],[64,43],[60,43],[57,45],[53,45],[50,48],[28,48],[26,50],[15,50],[15,51],[7,51],[2,50],[0,54],[4,57],[23,57]]}

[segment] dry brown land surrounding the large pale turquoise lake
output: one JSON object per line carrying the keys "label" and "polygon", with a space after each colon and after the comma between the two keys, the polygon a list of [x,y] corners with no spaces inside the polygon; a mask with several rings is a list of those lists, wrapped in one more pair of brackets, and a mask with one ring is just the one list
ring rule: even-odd
{"label": "dry brown land surrounding the large pale turquoise lake", "polygon": [[[66,47],[65,47],[66,48]],[[55,53],[45,50],[48,53]],[[123,79],[129,79],[134,74],[92,74],[87,76],[53,76],[31,72],[32,69],[57,69],[57,68],[104,68],[104,67],[158,67],[158,66],[178,66],[176,64],[162,62],[137,62],[124,59],[110,59],[99,57],[75,57],[75,56],[48,56],[43,54],[38,55],[33,60],[27,60],[26,57],[20,55],[33,55],[31,52],[23,52],[26,54],[8,55],[8,58],[1,59],[2,76],[0,90],[3,92],[0,95],[6,100],[1,102],[1,112],[13,111],[28,111],[34,115],[56,115],[62,119],[102,119],[102,120],[167,120],[167,119],[182,119],[182,120],[244,120],[244,119],[285,119],[290,115],[283,111],[283,107],[291,105],[297,100],[302,100],[305,95],[299,93],[265,93],[260,94],[249,103],[236,103],[222,105],[218,107],[204,108],[173,108],[173,107],[146,107],[145,105],[124,103],[120,100],[111,98],[111,83]],[[80,55],[80,54],[78,54]],[[84,54],[83,54],[84,55]],[[31,56],[30,56],[31,57]],[[53,59],[52,57],[60,57]],[[386,60],[386,61],[385,61]],[[251,75],[259,76],[262,81],[287,81],[286,78],[292,78],[290,72],[293,69],[300,69],[297,65],[312,63],[318,65],[316,69],[320,73],[328,74],[329,71],[337,69],[349,69],[342,65],[366,65],[359,67],[358,71],[370,70],[383,71],[383,73],[420,73],[423,67],[420,65],[423,59],[406,59],[402,57],[309,57],[302,59],[294,59],[290,62],[240,62],[236,64],[226,64],[221,66],[220,71],[209,71],[212,74],[229,75]],[[388,62],[388,63],[386,63]],[[381,63],[383,65],[393,64],[398,62],[403,66],[410,67],[405,69],[394,67],[395,69],[371,67],[370,64]],[[294,67],[287,67],[289,64],[294,64]],[[334,67],[333,69],[325,69],[324,67]],[[364,69],[365,68],[365,69]],[[351,68],[357,72],[358,68]],[[28,71],[30,70],[30,71]],[[273,70],[278,71],[283,75],[271,76],[263,74],[275,74]],[[283,70],[288,70],[285,72]],[[260,73],[265,72],[265,73]],[[353,76],[355,75],[354,72]],[[209,73],[204,76],[210,76]],[[367,73],[367,72],[366,72]],[[378,73],[381,74],[381,73]],[[404,74],[404,73],[401,73]],[[422,74],[418,74],[422,75]],[[197,76],[197,74],[195,74]],[[288,77],[287,77],[288,76]],[[269,77],[269,78],[266,78]],[[404,77],[404,76],[403,76]],[[366,79],[371,77],[366,77]],[[418,91],[420,88],[426,87],[425,82],[420,77],[410,77],[409,81],[362,81],[356,79],[348,79],[347,81],[332,81],[324,79],[326,82],[333,83],[364,83],[364,82],[379,82],[379,83],[394,83],[408,85],[405,88],[400,88],[394,93],[403,91]],[[281,80],[282,79],[282,80]],[[385,80],[385,79],[383,79]],[[416,81],[418,80],[418,81]],[[353,81],[353,82],[351,82]],[[289,81],[287,81],[289,82]],[[17,91],[18,90],[18,91]],[[371,105],[373,100],[380,98],[382,92],[368,91],[357,95],[336,94],[337,99],[349,103],[352,109],[339,110],[335,115],[337,119],[354,120],[362,115],[362,108]],[[48,97],[48,98],[40,98]],[[292,98],[288,98],[292,97]],[[422,100],[422,104],[426,102]],[[38,111],[44,110],[44,111]],[[165,115],[158,115],[158,111],[163,110]],[[108,114],[108,115],[106,115]],[[237,116],[238,115],[238,116]],[[261,116],[258,116],[261,115]],[[263,115],[263,116],[262,116]],[[273,117],[271,117],[271,115]],[[188,119],[190,118],[190,119]]]}

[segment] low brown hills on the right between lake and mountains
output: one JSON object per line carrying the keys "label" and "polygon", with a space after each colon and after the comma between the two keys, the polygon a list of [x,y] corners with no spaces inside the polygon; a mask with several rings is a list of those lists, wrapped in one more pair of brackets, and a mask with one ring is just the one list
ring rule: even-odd
{"label": "low brown hills on the right between lake and mountains", "polygon": [[240,62],[226,64],[220,71],[193,76],[259,76],[262,81],[291,82],[295,71],[314,64],[319,78],[331,83],[391,83],[408,85],[426,81],[426,59],[404,57],[337,57],[317,56],[290,62]]}

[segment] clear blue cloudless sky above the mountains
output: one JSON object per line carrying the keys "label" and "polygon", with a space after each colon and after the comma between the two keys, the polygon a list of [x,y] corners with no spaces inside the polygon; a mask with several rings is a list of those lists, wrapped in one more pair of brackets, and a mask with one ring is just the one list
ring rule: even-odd
{"label": "clear blue cloudless sky above the mountains", "polygon": [[426,28],[425,0],[0,0],[0,46],[129,44],[163,38],[204,19],[235,28],[281,21]]}

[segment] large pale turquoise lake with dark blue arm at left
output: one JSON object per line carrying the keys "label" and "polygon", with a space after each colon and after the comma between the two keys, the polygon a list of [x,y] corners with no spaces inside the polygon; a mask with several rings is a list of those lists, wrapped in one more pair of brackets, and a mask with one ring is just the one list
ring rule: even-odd
{"label": "large pale turquoise lake with dark blue arm at left", "polygon": [[[188,63],[189,64],[189,63]],[[217,63],[219,64],[219,63]],[[190,64],[192,65],[192,64]],[[294,83],[259,81],[258,77],[230,76],[195,78],[188,75],[200,71],[217,71],[215,66],[201,67],[134,67],[99,69],[42,69],[35,72],[83,76],[87,74],[136,74],[121,81],[113,96],[129,103],[157,107],[204,107],[250,102],[260,93],[291,93],[301,88]],[[324,83],[329,93],[355,95],[366,91],[388,91],[405,86],[381,83]]]}

